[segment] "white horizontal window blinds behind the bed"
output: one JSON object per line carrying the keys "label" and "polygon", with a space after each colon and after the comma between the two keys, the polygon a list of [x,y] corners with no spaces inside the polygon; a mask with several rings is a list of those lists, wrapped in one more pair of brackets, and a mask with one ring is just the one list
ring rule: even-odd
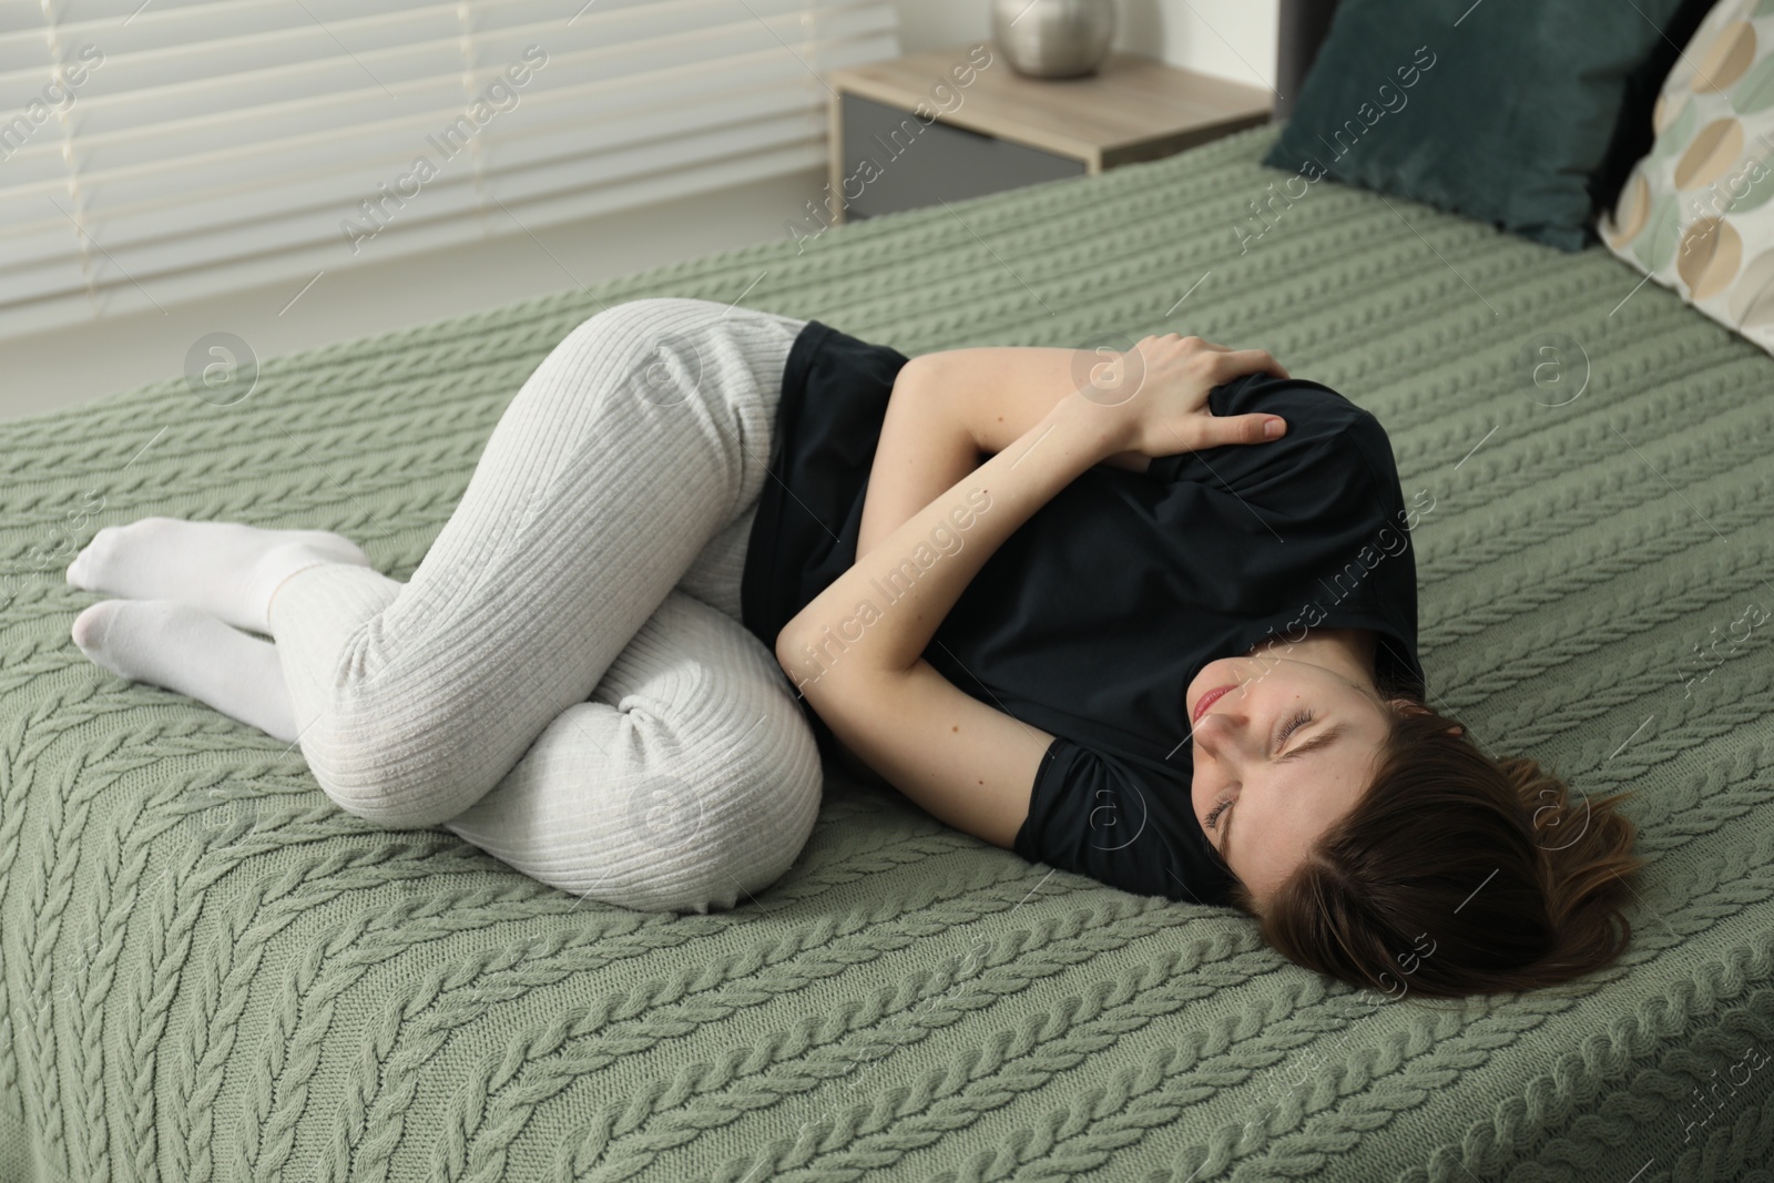
{"label": "white horizontal window blinds behind the bed", "polygon": [[892,0],[0,0],[0,335],[812,168]]}

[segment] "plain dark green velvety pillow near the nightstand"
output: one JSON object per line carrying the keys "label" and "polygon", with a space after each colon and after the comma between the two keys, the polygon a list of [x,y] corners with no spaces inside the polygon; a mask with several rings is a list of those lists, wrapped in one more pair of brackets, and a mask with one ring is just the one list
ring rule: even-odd
{"label": "plain dark green velvety pillow near the nightstand", "polygon": [[1343,0],[1263,163],[1581,250],[1593,195],[1618,186],[1620,129],[1650,124],[1634,76],[1673,57],[1666,37],[1685,41],[1707,7]]}

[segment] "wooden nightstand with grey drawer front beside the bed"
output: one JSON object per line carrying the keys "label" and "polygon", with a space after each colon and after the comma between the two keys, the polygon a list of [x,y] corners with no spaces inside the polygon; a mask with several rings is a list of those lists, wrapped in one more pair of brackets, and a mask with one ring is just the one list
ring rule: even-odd
{"label": "wooden nightstand with grey drawer front beside the bed", "polygon": [[[834,69],[830,220],[1157,160],[1267,122],[1274,96],[1134,53],[1024,78],[992,43]],[[812,213],[809,209],[809,213]]]}

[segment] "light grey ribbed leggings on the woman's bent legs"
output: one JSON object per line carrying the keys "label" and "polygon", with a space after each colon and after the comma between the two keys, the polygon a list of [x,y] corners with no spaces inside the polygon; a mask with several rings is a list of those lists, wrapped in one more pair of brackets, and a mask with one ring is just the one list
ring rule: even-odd
{"label": "light grey ribbed leggings on the woman's bent legs", "polygon": [[820,754],[740,573],[804,323],[598,312],[506,408],[410,582],[284,584],[298,741],[341,809],[642,910],[731,908],[793,864]]}

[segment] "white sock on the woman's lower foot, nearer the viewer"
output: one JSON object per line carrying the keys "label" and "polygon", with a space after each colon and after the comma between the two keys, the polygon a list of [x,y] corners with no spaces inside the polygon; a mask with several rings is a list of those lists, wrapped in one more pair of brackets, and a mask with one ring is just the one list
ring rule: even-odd
{"label": "white sock on the woman's lower foot, nearer the viewer", "polygon": [[101,599],[75,617],[75,644],[130,681],[190,695],[229,718],[296,740],[277,646],[174,599]]}

